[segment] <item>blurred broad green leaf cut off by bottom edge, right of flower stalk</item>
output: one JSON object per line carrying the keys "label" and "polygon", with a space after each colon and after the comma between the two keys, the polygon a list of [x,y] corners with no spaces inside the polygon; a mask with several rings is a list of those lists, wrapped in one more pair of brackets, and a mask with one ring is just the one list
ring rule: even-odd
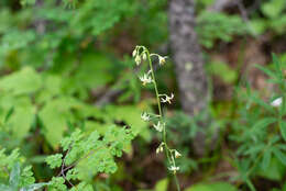
{"label": "blurred broad green leaf cut off by bottom edge, right of flower stalk", "polygon": [[238,191],[238,189],[228,182],[216,182],[198,183],[187,188],[185,191]]}

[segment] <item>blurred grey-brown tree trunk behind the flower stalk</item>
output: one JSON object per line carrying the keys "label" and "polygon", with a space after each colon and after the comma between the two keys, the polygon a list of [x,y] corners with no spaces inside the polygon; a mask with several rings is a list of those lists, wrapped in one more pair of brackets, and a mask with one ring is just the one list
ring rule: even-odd
{"label": "blurred grey-brown tree trunk behind the flower stalk", "polygon": [[[208,104],[208,82],[198,37],[195,32],[194,0],[170,0],[169,2],[170,48],[183,110],[190,116],[205,111]],[[207,126],[206,122],[200,127]],[[199,131],[194,141],[197,155],[205,154],[205,131]]]}

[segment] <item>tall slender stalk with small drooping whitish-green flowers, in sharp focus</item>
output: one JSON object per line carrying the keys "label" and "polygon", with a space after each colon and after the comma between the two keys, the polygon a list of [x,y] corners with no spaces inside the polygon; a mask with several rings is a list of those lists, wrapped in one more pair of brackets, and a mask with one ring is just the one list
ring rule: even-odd
{"label": "tall slender stalk with small drooping whitish-green flowers, in sharp focus", "polygon": [[156,154],[165,151],[167,161],[168,161],[168,170],[173,172],[175,183],[177,187],[177,191],[180,191],[179,182],[176,176],[176,172],[179,170],[179,167],[176,165],[176,158],[180,157],[182,155],[176,149],[173,149],[167,144],[167,135],[166,135],[166,125],[163,119],[163,111],[162,111],[162,103],[172,103],[172,100],[174,98],[174,94],[170,93],[170,96],[166,93],[160,93],[157,88],[157,82],[155,78],[154,67],[152,63],[152,57],[158,58],[160,66],[163,66],[166,63],[166,56],[161,56],[158,54],[150,54],[148,49],[144,46],[136,46],[135,49],[132,53],[132,56],[134,57],[134,60],[136,65],[141,65],[144,61],[148,63],[150,70],[145,72],[143,76],[139,77],[139,79],[142,81],[143,86],[146,86],[147,83],[153,85],[154,91],[156,94],[156,101],[157,101],[157,108],[158,108],[158,114],[154,113],[146,113],[143,112],[141,115],[141,119],[145,122],[153,123],[153,127],[162,134],[162,142],[158,145],[156,149]]}

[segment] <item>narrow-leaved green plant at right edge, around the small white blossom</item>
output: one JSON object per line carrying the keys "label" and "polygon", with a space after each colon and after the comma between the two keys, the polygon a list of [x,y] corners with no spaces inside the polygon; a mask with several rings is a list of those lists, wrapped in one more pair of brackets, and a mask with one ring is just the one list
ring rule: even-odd
{"label": "narrow-leaved green plant at right edge, around the small white blossom", "polygon": [[[272,94],[270,102],[265,102],[255,92],[246,87],[246,92],[240,91],[241,108],[238,123],[234,125],[235,134],[231,139],[239,143],[237,161],[241,179],[251,190],[255,190],[251,177],[261,175],[268,179],[279,180],[285,173],[285,142],[284,121],[285,115],[285,85],[280,61],[273,55],[275,69],[270,70],[257,66],[267,74],[270,81],[279,88]],[[277,98],[282,101],[277,102]],[[274,100],[274,101],[273,101]],[[284,166],[284,167],[280,167]]]}

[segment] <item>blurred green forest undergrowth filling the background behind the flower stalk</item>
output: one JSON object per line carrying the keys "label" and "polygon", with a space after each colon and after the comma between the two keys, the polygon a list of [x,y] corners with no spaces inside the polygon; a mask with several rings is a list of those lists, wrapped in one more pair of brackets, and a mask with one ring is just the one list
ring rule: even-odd
{"label": "blurred green forest undergrowth filling the background behind the flower stalk", "polygon": [[[219,10],[216,0],[195,2],[210,101],[190,117],[178,96],[167,0],[1,0],[0,149],[19,148],[43,182],[57,172],[45,157],[76,128],[103,134],[110,124],[129,125],[135,139],[116,173],[92,178],[94,190],[175,190],[155,154],[158,134],[140,119],[156,110],[131,57],[142,44],[169,56],[157,78],[176,94],[165,113],[168,139],[183,154],[182,189],[286,191],[285,106],[271,105],[285,97],[286,1],[233,0]],[[206,113],[211,147],[201,156],[193,142]]]}

